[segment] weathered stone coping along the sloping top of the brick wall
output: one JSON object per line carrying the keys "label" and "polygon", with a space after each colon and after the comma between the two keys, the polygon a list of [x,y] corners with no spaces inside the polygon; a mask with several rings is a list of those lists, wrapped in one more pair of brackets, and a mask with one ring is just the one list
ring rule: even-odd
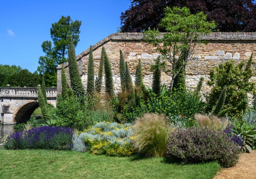
{"label": "weathered stone coping along the sloping top of the brick wall", "polygon": [[[159,38],[163,37],[164,33],[160,33]],[[112,33],[108,37],[100,40],[98,43],[92,46],[92,50],[99,47],[109,40],[142,40],[142,32],[125,32],[125,33]],[[256,32],[212,32],[206,35],[202,40],[256,40]],[[88,54],[90,49],[86,49],[84,52],[76,56],[79,61],[84,55]],[[68,62],[64,64],[64,68],[68,67]],[[61,64],[58,65],[57,69],[61,69]]]}

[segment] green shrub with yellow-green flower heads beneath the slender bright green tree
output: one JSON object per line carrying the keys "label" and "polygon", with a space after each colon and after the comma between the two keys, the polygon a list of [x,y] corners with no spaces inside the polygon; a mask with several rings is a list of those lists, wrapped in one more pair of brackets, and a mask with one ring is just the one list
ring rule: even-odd
{"label": "green shrub with yellow-green flower heads beneath the slender bright green tree", "polygon": [[[147,101],[140,99],[140,105],[125,105],[123,113],[128,121],[134,121],[144,113],[162,113],[174,124],[182,122],[182,126],[191,126],[195,122],[194,114],[204,112],[206,106],[200,97],[190,90],[174,90],[160,96],[149,94]],[[179,121],[175,118],[179,118]]]}

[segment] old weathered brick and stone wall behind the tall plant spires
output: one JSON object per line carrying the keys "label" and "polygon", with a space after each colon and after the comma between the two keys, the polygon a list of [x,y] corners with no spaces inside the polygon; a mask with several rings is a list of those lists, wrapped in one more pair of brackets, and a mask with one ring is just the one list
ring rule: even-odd
{"label": "old weathered brick and stone wall behind the tall plant spires", "polygon": [[[160,36],[161,38],[161,36]],[[211,33],[204,37],[208,40],[208,44],[199,44],[196,54],[197,60],[191,60],[186,66],[186,82],[188,88],[195,88],[200,76],[205,77],[204,85],[201,93],[205,95],[210,90],[206,85],[209,77],[209,71],[212,67],[219,65],[228,59],[234,59],[236,63],[241,60],[248,60],[253,52],[253,59],[256,58],[256,32],[218,32]],[[132,81],[136,80],[136,65],[139,58],[142,62],[143,81],[146,86],[152,84],[152,73],[150,72],[150,64],[159,54],[156,49],[142,39],[142,33],[113,33],[105,39],[101,40],[94,46],[93,57],[95,63],[95,79],[97,78],[100,63],[100,54],[102,47],[106,48],[106,52],[110,59],[113,72],[115,92],[120,91],[119,77],[119,50],[124,54],[125,61],[132,75]],[[89,57],[89,49],[76,56],[79,65],[80,75],[84,88],[87,86],[87,63]],[[68,84],[70,85],[68,63],[64,64],[67,72]],[[253,64],[255,68],[255,64]],[[58,66],[57,92],[61,92],[61,65]],[[252,78],[254,80],[255,78]],[[168,75],[162,74],[162,83],[170,84],[171,80]],[[104,85],[104,80],[103,80]]]}

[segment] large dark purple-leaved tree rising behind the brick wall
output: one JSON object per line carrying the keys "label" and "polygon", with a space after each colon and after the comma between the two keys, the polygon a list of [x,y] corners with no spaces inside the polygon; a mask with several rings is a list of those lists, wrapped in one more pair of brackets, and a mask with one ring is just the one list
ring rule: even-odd
{"label": "large dark purple-leaved tree rising behind the brick wall", "polygon": [[254,0],[132,0],[131,6],[121,14],[122,32],[143,32],[158,28],[164,10],[169,7],[188,7],[192,14],[204,12],[207,21],[214,20],[216,31],[255,32],[256,4]]}

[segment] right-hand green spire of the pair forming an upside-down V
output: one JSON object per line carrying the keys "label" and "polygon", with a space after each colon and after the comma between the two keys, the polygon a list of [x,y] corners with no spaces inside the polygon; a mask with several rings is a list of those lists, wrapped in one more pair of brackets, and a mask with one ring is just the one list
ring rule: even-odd
{"label": "right-hand green spire of the pair forming an upside-down V", "polygon": [[104,69],[105,69],[105,87],[106,92],[109,97],[113,97],[114,95],[114,84],[113,84],[113,77],[112,77],[112,69],[111,64],[108,58],[108,55],[105,51],[104,54]]}

